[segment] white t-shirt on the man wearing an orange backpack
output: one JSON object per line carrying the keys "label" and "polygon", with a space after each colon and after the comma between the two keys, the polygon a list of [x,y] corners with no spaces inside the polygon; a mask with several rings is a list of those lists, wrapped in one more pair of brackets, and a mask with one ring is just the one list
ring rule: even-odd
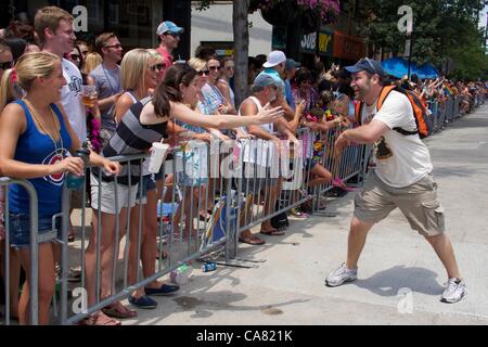
{"label": "white t-shirt on the man wearing an orange backpack", "polygon": [[391,91],[380,112],[376,104],[362,107],[362,124],[372,119],[384,123],[390,130],[374,144],[375,174],[395,188],[411,185],[433,170],[431,154],[419,134],[404,136],[394,128],[416,129],[410,101],[400,92]]}

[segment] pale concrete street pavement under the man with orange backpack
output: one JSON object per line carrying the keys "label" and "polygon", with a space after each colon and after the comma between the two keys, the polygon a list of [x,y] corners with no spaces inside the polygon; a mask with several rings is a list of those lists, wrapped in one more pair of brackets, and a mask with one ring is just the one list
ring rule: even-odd
{"label": "pale concrete street pavement under the man with orange backpack", "polygon": [[[139,310],[124,324],[488,324],[487,130],[485,105],[426,141],[467,283],[463,301],[439,301],[445,270],[398,210],[370,233],[358,281],[325,287],[325,277],[345,260],[349,193],[331,203],[337,217],[294,220],[285,236],[265,236],[264,246],[241,244],[241,258],[266,260],[257,268],[195,269],[179,295],[155,297],[157,309]],[[406,287],[410,294],[399,295]]]}

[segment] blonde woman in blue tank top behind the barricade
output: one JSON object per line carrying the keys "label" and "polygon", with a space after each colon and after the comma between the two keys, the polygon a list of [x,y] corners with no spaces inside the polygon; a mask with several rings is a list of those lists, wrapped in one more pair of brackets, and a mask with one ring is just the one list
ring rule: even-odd
{"label": "blonde woman in blue tank top behind the barricade", "polygon": [[[53,215],[61,213],[61,193],[66,172],[84,174],[81,158],[68,156],[80,147],[61,101],[66,85],[59,56],[28,53],[15,65],[20,86],[26,91],[23,100],[9,104],[0,117],[0,175],[28,179],[39,201],[39,323],[49,323],[49,306],[54,294],[54,255],[51,242],[56,237]],[[119,165],[91,153],[92,165],[117,174]],[[21,262],[27,280],[21,296],[18,317],[28,323],[30,282],[28,195],[18,185],[10,191],[10,229],[12,246],[20,248]]]}

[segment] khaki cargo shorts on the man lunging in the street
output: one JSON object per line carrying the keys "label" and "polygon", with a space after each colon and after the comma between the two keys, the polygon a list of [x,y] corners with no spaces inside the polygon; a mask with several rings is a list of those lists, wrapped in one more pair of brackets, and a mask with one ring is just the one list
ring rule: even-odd
{"label": "khaki cargo shorts on the man lunging in the street", "polygon": [[361,221],[376,223],[397,207],[421,235],[444,233],[444,208],[437,200],[437,183],[431,174],[412,185],[393,188],[370,172],[362,191],[356,195],[355,216]]}

